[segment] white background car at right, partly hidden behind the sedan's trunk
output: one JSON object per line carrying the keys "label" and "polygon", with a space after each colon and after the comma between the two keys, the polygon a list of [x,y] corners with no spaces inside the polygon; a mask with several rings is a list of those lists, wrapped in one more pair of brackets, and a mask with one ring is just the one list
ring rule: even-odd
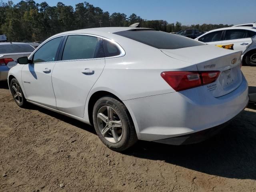
{"label": "white background car at right, partly hidden behind the sedan's trunk", "polygon": [[256,28],[228,27],[211,30],[199,36],[195,40],[213,45],[234,44],[234,50],[242,51],[242,63],[256,66],[256,48],[253,38],[256,36]]}

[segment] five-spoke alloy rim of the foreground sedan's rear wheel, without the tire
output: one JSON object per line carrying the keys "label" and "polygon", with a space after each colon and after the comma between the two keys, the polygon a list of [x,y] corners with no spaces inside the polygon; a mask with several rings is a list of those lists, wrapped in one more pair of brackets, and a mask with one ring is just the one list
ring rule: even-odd
{"label": "five-spoke alloy rim of the foreground sedan's rear wheel, without the tire", "polygon": [[111,143],[118,143],[123,136],[123,124],[114,108],[103,106],[98,110],[97,123],[100,133]]}

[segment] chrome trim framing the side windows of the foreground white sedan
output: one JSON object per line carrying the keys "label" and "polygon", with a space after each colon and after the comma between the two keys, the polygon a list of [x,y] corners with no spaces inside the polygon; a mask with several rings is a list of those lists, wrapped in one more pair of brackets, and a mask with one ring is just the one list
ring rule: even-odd
{"label": "chrome trim framing the side windows of the foreground white sedan", "polygon": [[[47,40],[46,42],[43,42],[40,46],[38,46],[38,48],[36,48],[36,50],[34,52],[32,52],[32,54],[29,56],[29,59],[36,53],[37,50],[39,50],[39,48],[41,46],[43,46],[44,44],[46,44],[47,42],[49,42],[50,40],[53,40],[55,38],[58,38],[58,37],[62,37],[62,36],[70,36],[70,35],[85,35],[85,36],[92,36],[92,37],[97,37],[97,38],[102,38],[104,40],[107,40],[111,43],[113,43],[114,45],[116,45],[118,47],[118,49],[120,50],[120,54],[119,55],[116,55],[116,56],[112,56],[112,57],[102,57],[102,58],[90,58],[90,59],[76,59],[76,60],[59,60],[59,61],[54,61],[54,62],[64,62],[64,61],[81,61],[81,60],[98,60],[98,59],[109,59],[109,58],[118,58],[118,57],[122,57],[122,56],[125,56],[125,51],[124,49],[122,48],[122,46],[120,46],[120,44],[118,44],[117,42],[115,42],[114,40],[112,39],[109,39],[109,38],[106,38],[106,37],[102,37],[102,36],[98,36],[98,35],[94,35],[94,34],[86,34],[86,33],[70,33],[70,34],[62,34],[62,35],[59,35],[59,36],[56,36],[54,38],[51,38],[49,40]],[[52,61],[51,61],[52,62]],[[49,63],[49,62],[47,62]]]}

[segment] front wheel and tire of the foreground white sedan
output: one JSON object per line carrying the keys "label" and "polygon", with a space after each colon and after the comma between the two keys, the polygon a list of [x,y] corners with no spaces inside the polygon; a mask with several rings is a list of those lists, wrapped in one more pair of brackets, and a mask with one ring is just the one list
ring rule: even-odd
{"label": "front wheel and tire of the foreground white sedan", "polygon": [[28,103],[16,78],[13,78],[10,82],[10,91],[16,104],[21,108],[26,108]]}

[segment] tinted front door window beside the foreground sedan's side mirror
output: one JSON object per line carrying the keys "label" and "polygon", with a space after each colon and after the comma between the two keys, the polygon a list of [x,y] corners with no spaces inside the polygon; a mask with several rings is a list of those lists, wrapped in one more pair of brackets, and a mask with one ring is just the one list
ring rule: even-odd
{"label": "tinted front door window beside the foreground sedan's side mirror", "polygon": [[34,54],[33,62],[40,63],[55,61],[56,52],[61,39],[62,37],[55,38],[40,47]]}

